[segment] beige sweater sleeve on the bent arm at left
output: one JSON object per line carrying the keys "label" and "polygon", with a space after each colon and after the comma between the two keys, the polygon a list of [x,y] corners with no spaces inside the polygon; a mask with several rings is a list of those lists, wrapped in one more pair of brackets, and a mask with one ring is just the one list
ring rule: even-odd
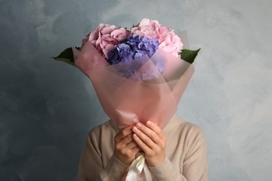
{"label": "beige sweater sleeve on the bent arm at left", "polygon": [[128,166],[112,155],[107,165],[103,168],[98,140],[100,139],[93,138],[91,134],[87,137],[80,157],[77,173],[78,180],[121,180]]}

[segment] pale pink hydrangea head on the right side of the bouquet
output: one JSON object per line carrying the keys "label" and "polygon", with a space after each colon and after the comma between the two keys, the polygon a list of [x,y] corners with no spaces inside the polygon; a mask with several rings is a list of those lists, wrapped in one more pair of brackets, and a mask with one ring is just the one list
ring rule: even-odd
{"label": "pale pink hydrangea head on the right side of the bouquet", "polygon": [[148,38],[156,38],[159,41],[159,48],[169,54],[178,56],[183,47],[183,43],[172,29],[160,25],[158,21],[151,19],[142,19],[142,21],[131,28],[131,33]]}

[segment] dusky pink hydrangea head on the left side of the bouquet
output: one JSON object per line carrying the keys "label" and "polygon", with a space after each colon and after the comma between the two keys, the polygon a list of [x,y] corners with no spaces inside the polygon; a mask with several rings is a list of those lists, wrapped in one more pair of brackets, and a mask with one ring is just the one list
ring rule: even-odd
{"label": "dusky pink hydrangea head on the left side of the bouquet", "polygon": [[118,28],[110,24],[100,24],[82,40],[82,47],[89,40],[98,52],[107,59],[107,53],[114,49],[114,45],[118,45],[129,34],[130,31],[124,28]]}

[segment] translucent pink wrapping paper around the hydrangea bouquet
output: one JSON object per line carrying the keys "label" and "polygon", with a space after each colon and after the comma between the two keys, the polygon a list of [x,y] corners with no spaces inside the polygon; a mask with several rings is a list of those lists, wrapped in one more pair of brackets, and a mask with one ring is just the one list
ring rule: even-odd
{"label": "translucent pink wrapping paper around the hydrangea bouquet", "polygon": [[[147,120],[165,127],[194,72],[190,63],[160,49],[151,58],[144,56],[116,65],[109,65],[89,41],[74,54],[75,65],[91,79],[103,110],[120,129]],[[140,64],[134,77],[128,79],[117,71],[135,62]],[[163,74],[156,63],[165,65]],[[146,72],[156,75],[156,79],[141,81]]]}

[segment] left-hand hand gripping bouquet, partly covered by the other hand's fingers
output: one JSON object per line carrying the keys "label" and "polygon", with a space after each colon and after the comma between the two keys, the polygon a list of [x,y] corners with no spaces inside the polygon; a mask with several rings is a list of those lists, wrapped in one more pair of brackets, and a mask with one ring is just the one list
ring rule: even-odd
{"label": "left-hand hand gripping bouquet, partly covered by the other hand's fingers", "polygon": [[121,129],[114,137],[114,155],[123,164],[131,164],[140,148],[133,140],[133,126]]}

